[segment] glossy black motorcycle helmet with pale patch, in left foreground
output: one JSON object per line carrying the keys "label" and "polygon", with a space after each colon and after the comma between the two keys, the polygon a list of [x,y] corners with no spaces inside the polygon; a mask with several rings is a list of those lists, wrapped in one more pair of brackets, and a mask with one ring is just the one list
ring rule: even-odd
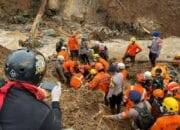
{"label": "glossy black motorcycle helmet with pale patch, in left foreground", "polygon": [[46,61],[40,52],[21,48],[8,56],[4,69],[8,79],[36,85],[45,74]]}

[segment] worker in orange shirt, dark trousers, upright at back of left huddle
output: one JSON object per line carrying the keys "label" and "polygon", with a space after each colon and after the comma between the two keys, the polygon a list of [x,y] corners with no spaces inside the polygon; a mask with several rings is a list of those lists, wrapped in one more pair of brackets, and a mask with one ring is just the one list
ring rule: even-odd
{"label": "worker in orange shirt, dark trousers, upright at back of left huddle", "polygon": [[75,33],[74,35],[70,36],[68,39],[68,49],[70,50],[71,58],[77,58],[79,56],[79,43],[77,40],[77,36],[79,33]]}

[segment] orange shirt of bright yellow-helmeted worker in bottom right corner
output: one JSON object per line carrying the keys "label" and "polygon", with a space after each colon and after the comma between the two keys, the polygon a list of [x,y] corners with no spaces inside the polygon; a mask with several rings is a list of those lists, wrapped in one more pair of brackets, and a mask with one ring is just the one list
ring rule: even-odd
{"label": "orange shirt of bright yellow-helmeted worker in bottom right corner", "polygon": [[177,130],[177,128],[180,128],[180,115],[171,115],[158,118],[151,130]]}

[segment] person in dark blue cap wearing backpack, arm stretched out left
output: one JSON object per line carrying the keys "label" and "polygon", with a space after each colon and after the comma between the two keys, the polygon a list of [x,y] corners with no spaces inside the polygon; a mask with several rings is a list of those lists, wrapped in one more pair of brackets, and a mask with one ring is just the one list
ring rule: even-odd
{"label": "person in dark blue cap wearing backpack, arm stretched out left", "polygon": [[[132,120],[132,127],[134,129],[147,130],[153,123],[153,117],[151,115],[151,105],[147,101],[141,101],[141,94],[137,91],[131,90],[129,92],[129,100],[135,104],[134,107],[129,110],[125,110],[116,115],[105,115],[103,118],[123,120],[129,118]],[[142,112],[141,112],[142,111]],[[142,118],[141,113],[146,114],[146,118]],[[145,117],[145,116],[144,116]],[[147,121],[146,123],[144,121]]]}

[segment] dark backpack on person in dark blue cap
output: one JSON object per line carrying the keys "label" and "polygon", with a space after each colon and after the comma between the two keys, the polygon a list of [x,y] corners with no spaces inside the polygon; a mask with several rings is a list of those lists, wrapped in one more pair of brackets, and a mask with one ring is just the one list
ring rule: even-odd
{"label": "dark backpack on person in dark blue cap", "polygon": [[154,117],[151,112],[147,109],[146,104],[144,103],[143,108],[135,106],[134,108],[138,112],[138,117],[135,120],[135,123],[138,128],[141,130],[148,130],[154,123]]}

